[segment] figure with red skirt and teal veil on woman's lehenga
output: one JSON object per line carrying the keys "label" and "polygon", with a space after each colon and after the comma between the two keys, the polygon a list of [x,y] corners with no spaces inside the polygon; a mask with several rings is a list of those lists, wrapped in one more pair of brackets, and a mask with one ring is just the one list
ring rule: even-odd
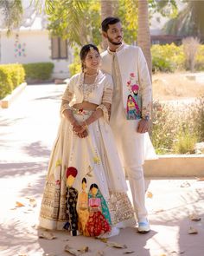
{"label": "figure with red skirt and teal veil on woman's lehenga", "polygon": [[[90,236],[99,236],[110,232],[112,227],[110,213],[105,199],[99,191],[97,184],[93,183],[88,195],[89,217],[86,223],[86,229]],[[104,207],[104,213],[103,213]],[[105,218],[107,216],[107,220]]]}

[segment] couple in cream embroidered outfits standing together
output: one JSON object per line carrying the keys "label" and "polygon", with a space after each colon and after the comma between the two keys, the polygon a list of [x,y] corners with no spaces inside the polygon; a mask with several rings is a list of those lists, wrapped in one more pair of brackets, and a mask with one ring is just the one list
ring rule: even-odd
{"label": "couple in cream embroidered outfits standing together", "polygon": [[154,154],[147,133],[150,75],[141,49],[123,43],[118,18],[105,18],[102,31],[108,49],[100,56],[95,45],[82,47],[82,72],[71,77],[62,96],[41,201],[39,226],[73,236],[117,235],[136,225],[134,212],[138,232],[150,231],[143,177],[145,154]]}

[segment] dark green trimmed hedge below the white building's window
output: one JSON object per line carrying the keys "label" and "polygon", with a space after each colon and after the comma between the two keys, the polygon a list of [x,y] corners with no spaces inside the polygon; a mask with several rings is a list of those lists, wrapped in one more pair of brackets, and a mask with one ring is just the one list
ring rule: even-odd
{"label": "dark green trimmed hedge below the white building's window", "polygon": [[54,63],[52,62],[36,62],[23,64],[25,69],[26,81],[28,80],[39,80],[46,81],[49,80],[53,69]]}

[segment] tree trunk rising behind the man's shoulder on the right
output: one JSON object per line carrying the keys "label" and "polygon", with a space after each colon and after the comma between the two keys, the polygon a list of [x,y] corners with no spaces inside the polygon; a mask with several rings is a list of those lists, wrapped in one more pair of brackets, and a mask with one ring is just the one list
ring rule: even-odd
{"label": "tree trunk rising behind the man's shoulder on the right", "polygon": [[147,65],[152,72],[151,52],[150,52],[150,26],[149,26],[149,12],[148,0],[138,0],[138,46],[143,50],[143,55],[146,58]]}

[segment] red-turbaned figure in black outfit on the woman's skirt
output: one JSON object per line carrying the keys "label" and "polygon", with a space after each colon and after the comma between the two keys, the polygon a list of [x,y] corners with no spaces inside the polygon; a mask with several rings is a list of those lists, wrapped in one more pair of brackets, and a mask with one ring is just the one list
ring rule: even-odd
{"label": "red-turbaned figure in black outfit on the woman's skirt", "polygon": [[64,228],[70,230],[71,235],[78,234],[78,213],[76,210],[78,191],[73,187],[73,182],[78,171],[75,167],[67,168],[67,217],[68,221]]}

